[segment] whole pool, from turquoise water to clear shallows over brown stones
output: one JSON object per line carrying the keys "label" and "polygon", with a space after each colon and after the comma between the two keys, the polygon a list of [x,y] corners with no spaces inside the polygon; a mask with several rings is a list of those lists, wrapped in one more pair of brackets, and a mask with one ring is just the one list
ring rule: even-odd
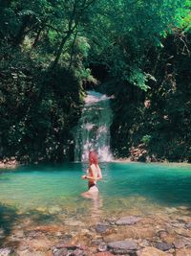
{"label": "whole pool, from turquoise water to clear shallows over brown stones", "polygon": [[[13,248],[19,256],[47,256],[53,255],[54,245],[70,243],[84,245],[90,249],[87,255],[95,255],[101,241],[133,238],[141,243],[146,236],[152,245],[159,240],[159,230],[168,230],[170,241],[185,232],[191,237],[190,165],[116,162],[100,166],[103,180],[98,182],[95,199],[80,196],[87,188],[87,180],[80,178],[86,165],[1,170],[0,248]],[[120,217],[131,215],[142,221],[115,225]],[[104,222],[110,228],[100,234],[96,226]]]}

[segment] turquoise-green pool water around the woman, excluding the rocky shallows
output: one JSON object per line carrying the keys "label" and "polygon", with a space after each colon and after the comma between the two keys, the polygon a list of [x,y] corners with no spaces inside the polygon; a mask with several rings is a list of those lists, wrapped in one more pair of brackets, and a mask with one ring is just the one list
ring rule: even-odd
{"label": "turquoise-green pool water around the woman, excluding the rocky shallows", "polygon": [[[180,164],[101,164],[96,201],[82,198],[87,181],[81,164],[20,167],[0,172],[0,204],[21,214],[39,211],[69,218],[148,213],[165,207],[191,207],[191,166]],[[3,207],[2,206],[2,207]],[[2,209],[0,208],[0,211]]]}

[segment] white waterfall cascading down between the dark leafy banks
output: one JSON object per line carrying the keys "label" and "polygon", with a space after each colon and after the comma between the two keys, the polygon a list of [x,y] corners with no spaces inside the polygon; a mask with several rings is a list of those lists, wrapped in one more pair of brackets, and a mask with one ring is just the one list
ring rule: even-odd
{"label": "white waterfall cascading down between the dark leafy banks", "polygon": [[111,161],[111,124],[110,98],[95,91],[87,91],[82,115],[74,134],[74,160],[86,162],[89,151],[95,150],[98,153],[99,161]]}

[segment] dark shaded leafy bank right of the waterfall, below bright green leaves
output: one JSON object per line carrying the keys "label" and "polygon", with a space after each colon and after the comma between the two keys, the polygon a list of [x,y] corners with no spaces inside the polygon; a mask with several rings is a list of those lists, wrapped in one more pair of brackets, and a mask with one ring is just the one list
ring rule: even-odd
{"label": "dark shaded leafy bank right of the waterfall, below bright green leaves", "polygon": [[160,51],[150,50],[145,71],[156,80],[148,83],[147,92],[131,84],[124,89],[121,82],[120,92],[111,90],[116,95],[112,147],[117,157],[191,162],[190,39],[190,34],[170,35]]}

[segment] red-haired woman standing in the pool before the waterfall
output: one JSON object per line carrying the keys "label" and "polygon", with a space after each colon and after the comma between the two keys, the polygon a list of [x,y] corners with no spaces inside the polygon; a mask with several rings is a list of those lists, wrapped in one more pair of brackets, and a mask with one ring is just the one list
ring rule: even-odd
{"label": "red-haired woman standing in the pool before the waterfall", "polygon": [[82,175],[83,179],[88,179],[88,191],[83,193],[82,196],[86,198],[91,198],[98,193],[98,188],[96,186],[96,181],[102,179],[101,170],[98,166],[96,151],[89,152],[89,169],[87,175]]}

